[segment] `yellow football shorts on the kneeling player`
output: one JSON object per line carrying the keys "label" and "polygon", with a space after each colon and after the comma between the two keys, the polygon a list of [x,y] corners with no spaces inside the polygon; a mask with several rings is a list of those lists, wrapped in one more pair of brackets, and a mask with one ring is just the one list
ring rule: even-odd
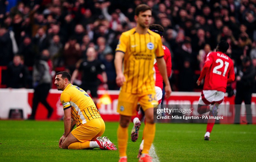
{"label": "yellow football shorts on the kneeling player", "polygon": [[105,123],[102,118],[95,118],[76,127],[71,133],[80,142],[95,141],[105,131]]}

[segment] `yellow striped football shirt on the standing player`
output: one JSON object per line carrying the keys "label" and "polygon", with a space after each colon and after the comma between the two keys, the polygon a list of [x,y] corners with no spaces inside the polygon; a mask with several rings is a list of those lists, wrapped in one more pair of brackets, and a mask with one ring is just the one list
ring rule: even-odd
{"label": "yellow striped football shirt on the standing player", "polygon": [[138,34],[133,28],[121,34],[116,51],[125,54],[126,82],[121,91],[131,94],[155,91],[154,59],[164,56],[161,36],[149,29],[146,34]]}

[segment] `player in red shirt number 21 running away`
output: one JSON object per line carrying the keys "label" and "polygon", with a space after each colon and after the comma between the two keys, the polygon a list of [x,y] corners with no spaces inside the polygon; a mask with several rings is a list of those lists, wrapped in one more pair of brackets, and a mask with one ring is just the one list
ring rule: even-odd
{"label": "player in red shirt number 21 running away", "polygon": [[[210,111],[210,116],[217,116],[219,104],[224,100],[226,87],[228,83],[235,80],[234,63],[226,55],[229,44],[222,40],[216,48],[216,52],[211,52],[207,55],[201,75],[196,82],[200,85],[204,79],[204,86],[198,102],[198,113],[203,114]],[[215,119],[208,120],[204,140],[210,140]]]}

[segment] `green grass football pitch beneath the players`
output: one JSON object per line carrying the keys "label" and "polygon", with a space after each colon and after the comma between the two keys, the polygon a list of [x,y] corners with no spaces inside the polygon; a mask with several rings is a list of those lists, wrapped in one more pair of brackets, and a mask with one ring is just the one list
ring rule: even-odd
{"label": "green grass football pitch beneath the players", "polygon": [[[106,122],[104,133],[115,144],[117,125]],[[129,139],[128,161],[138,161],[143,127],[137,142]],[[205,129],[206,124],[157,124],[154,146],[159,160],[255,161],[256,125],[216,124],[211,141],[203,140]],[[63,131],[61,121],[0,121],[0,161],[118,161],[118,151],[60,149]]]}

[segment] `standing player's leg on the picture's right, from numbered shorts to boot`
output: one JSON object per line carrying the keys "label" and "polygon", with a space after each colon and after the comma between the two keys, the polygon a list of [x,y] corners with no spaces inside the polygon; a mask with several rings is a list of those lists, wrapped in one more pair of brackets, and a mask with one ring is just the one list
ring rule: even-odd
{"label": "standing player's leg on the picture's right, from numbered shorts to boot", "polygon": [[140,96],[139,103],[145,112],[145,120],[146,120],[145,128],[143,131],[144,147],[141,152],[142,155],[140,157],[140,160],[142,160],[144,158],[149,157],[148,152],[155,137],[156,125],[154,123],[153,106],[158,104],[158,102],[156,101],[155,92],[142,94]]}

